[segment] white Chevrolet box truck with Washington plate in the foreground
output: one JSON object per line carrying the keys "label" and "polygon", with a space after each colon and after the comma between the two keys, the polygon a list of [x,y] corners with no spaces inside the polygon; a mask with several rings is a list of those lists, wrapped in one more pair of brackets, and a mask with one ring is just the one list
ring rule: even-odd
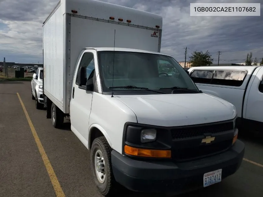
{"label": "white Chevrolet box truck with Washington plate in the foreground", "polygon": [[241,165],[235,107],[198,90],[161,35],[161,16],[93,0],[61,0],[43,24],[47,118],[70,117],[103,195],[206,187]]}

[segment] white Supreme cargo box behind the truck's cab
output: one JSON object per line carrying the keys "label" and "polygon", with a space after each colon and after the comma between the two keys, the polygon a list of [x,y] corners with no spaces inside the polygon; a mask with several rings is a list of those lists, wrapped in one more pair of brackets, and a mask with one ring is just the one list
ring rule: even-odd
{"label": "white Supreme cargo box behind the truck's cab", "polygon": [[156,14],[99,1],[61,0],[43,24],[45,95],[68,114],[82,49],[115,46],[160,52],[161,35],[162,17]]}

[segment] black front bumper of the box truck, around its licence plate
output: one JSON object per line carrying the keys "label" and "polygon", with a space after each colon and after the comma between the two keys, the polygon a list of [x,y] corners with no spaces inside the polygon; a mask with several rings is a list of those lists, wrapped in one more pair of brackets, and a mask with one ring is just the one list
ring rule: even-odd
{"label": "black front bumper of the box truck, around its licence plate", "polygon": [[115,180],[140,192],[182,192],[203,186],[204,173],[222,169],[222,179],[234,174],[242,163],[245,145],[240,140],[226,152],[190,162],[146,162],[112,150]]}

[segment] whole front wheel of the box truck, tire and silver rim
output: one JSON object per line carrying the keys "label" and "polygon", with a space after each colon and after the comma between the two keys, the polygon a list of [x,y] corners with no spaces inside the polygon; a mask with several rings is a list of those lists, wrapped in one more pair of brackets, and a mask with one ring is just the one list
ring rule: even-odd
{"label": "whole front wheel of the box truck, tire and silver rim", "polygon": [[91,169],[94,181],[102,195],[112,193],[115,182],[111,167],[111,148],[106,138],[96,138],[91,147]]}

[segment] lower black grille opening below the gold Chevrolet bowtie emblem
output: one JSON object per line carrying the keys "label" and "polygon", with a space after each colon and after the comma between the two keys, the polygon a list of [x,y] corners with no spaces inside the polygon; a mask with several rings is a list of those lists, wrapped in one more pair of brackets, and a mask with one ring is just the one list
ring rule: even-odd
{"label": "lower black grille opening below the gold Chevrolet bowtie emblem", "polygon": [[176,161],[185,161],[190,159],[195,159],[198,157],[204,157],[213,155],[219,152],[223,152],[230,148],[232,145],[232,139],[212,143],[212,144],[200,144],[200,146],[195,148],[184,148],[184,149],[173,149],[172,150],[172,157]]}

